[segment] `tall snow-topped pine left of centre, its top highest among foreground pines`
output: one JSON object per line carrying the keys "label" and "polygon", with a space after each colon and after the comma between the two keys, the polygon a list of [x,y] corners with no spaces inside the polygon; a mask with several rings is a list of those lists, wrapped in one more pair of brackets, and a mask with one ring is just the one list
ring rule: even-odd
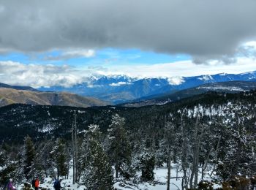
{"label": "tall snow-topped pine left of centre, its top highest among foreground pines", "polygon": [[121,165],[123,163],[128,164],[131,159],[131,148],[124,124],[124,118],[121,118],[118,114],[112,115],[112,121],[108,129],[108,154],[111,162],[115,165],[116,178],[118,178]]}

